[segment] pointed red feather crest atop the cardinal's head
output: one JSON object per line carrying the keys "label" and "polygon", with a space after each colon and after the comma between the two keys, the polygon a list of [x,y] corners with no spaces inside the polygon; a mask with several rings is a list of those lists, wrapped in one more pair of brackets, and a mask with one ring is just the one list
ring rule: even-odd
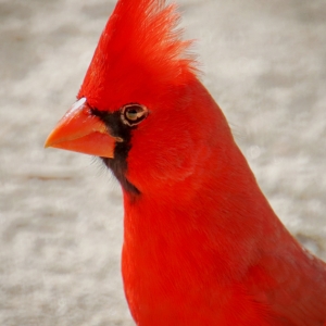
{"label": "pointed red feather crest atop the cardinal's head", "polygon": [[78,98],[99,110],[146,103],[193,78],[195,60],[175,27],[179,14],[164,0],[118,0],[93,54]]}

